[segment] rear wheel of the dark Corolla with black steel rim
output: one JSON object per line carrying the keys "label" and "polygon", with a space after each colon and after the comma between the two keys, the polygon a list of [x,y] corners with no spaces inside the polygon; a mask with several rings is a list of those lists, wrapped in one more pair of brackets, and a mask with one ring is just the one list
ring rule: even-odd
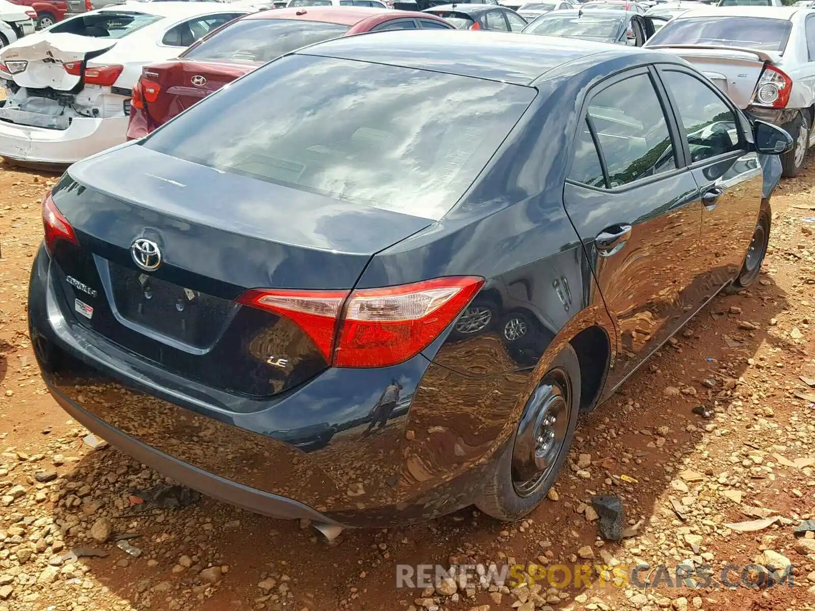
{"label": "rear wheel of the dark Corolla with black steel rim", "polygon": [[515,521],[538,506],[566,460],[579,407],[580,364],[566,345],[527,400],[512,441],[475,503],[482,512]]}

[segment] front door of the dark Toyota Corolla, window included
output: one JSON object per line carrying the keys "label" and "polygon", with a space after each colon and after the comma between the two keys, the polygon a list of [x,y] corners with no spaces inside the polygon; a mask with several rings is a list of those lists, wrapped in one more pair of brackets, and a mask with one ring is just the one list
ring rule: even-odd
{"label": "front door of the dark Toyota Corolla, window included", "polygon": [[742,266],[761,207],[763,173],[745,138],[744,121],[725,96],[679,66],[666,64],[659,75],[699,188],[701,251],[709,257],[702,286],[711,294]]}

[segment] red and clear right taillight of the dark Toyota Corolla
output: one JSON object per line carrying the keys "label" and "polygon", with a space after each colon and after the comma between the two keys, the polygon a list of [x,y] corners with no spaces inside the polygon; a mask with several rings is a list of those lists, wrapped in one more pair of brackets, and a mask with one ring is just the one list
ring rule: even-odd
{"label": "red and clear right taillight of the dark Toyota Corolla", "polygon": [[253,289],[238,301],[296,323],[334,367],[389,367],[430,345],[483,283],[454,276],[351,292]]}

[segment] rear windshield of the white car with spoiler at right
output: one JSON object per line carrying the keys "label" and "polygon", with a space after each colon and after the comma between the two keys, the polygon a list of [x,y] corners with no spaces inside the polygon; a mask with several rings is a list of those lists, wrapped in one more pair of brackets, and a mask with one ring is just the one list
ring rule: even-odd
{"label": "rear windshield of the white car with spoiler at right", "polygon": [[651,37],[648,46],[724,45],[783,51],[790,28],[787,20],[764,17],[692,17],[666,24]]}

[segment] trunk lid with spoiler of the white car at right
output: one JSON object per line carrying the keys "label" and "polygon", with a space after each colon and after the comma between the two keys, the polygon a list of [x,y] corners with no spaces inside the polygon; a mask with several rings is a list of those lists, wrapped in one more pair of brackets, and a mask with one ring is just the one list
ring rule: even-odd
{"label": "trunk lid with spoiler of the white car at right", "polygon": [[700,72],[729,95],[738,108],[747,108],[756,91],[756,84],[767,64],[776,64],[781,55],[773,51],[758,51],[733,46],[655,45],[694,64]]}

